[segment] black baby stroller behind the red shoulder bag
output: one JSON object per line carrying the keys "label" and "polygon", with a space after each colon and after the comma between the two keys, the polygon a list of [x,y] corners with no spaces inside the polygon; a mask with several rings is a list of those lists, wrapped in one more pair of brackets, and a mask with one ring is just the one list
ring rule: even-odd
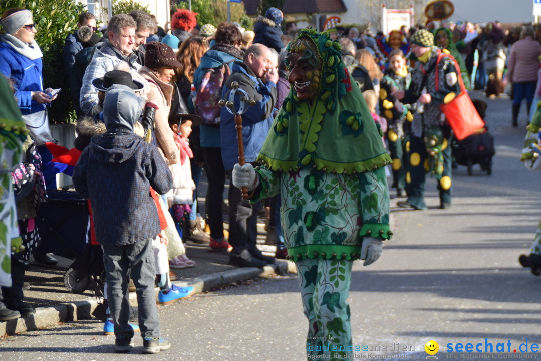
{"label": "black baby stroller behind the red shoulder bag", "polygon": [[[473,100],[473,105],[481,119],[485,119],[487,104],[482,100]],[[496,154],[494,149],[494,137],[488,128],[480,129],[479,132],[466,137],[461,141],[453,141],[451,145],[454,160],[461,166],[468,168],[468,175],[473,175],[473,166],[478,164],[487,175],[492,174],[492,157]]]}

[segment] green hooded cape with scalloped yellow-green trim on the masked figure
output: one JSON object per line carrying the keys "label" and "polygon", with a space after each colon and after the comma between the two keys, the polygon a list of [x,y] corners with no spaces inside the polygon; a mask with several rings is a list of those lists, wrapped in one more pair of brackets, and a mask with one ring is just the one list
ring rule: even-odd
{"label": "green hooded cape with scalloped yellow-green trim on the masked figure", "polygon": [[271,170],[315,168],[340,174],[391,164],[359,87],[352,87],[340,43],[315,29],[302,29],[299,37],[315,43],[323,63],[319,94],[309,103],[296,99],[291,88],[258,160]]}

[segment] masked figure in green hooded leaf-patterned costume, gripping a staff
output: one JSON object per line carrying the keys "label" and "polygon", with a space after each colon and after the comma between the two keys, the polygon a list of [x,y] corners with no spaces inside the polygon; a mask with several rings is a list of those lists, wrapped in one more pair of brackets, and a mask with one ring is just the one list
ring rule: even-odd
{"label": "masked figure in green hooded leaf-patterned costume, gripping a staff", "polygon": [[252,201],[280,194],[287,258],[295,262],[308,319],[308,359],[353,357],[346,303],[352,264],[377,260],[392,235],[384,169],[391,158],[340,50],[315,29],[289,43],[291,91],[261,149],[261,166],[237,164],[232,176]]}

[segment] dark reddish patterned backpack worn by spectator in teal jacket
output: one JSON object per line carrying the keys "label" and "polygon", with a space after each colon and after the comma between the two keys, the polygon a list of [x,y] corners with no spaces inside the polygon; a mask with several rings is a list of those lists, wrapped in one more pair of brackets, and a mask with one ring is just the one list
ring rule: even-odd
{"label": "dark reddish patterned backpack worn by spectator in teal jacket", "polygon": [[227,77],[231,74],[227,62],[216,68],[209,68],[201,78],[199,89],[195,94],[195,114],[203,119],[206,126],[220,126],[220,106],[218,102],[222,99],[222,88]]}

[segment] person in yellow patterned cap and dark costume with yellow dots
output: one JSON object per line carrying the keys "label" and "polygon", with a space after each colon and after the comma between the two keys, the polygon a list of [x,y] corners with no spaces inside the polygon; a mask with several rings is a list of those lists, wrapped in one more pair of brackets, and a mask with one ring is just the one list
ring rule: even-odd
{"label": "person in yellow patterned cap and dark costume with yellow dots", "polygon": [[418,109],[413,117],[410,141],[405,146],[409,161],[406,172],[408,197],[398,205],[426,209],[425,177],[426,173],[432,173],[438,180],[440,208],[447,208],[451,206],[452,160],[449,143],[452,132],[440,104],[450,102],[460,93],[460,69],[455,67],[451,55],[441,56],[441,50],[434,47],[434,36],[430,31],[418,30],[410,41],[411,50],[418,60],[412,71],[410,88],[391,95],[403,103],[417,102],[422,109]]}

